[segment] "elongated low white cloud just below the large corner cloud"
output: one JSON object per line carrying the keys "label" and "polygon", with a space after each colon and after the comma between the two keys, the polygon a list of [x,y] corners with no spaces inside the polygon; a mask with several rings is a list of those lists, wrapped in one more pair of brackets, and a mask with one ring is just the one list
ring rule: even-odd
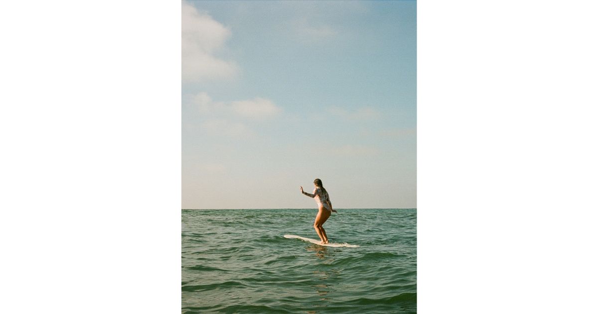
{"label": "elongated low white cloud just below the large corner cloud", "polygon": [[202,114],[236,115],[245,118],[271,118],[282,109],[271,100],[257,97],[251,100],[233,102],[214,102],[207,93],[199,93],[190,97],[191,104]]}

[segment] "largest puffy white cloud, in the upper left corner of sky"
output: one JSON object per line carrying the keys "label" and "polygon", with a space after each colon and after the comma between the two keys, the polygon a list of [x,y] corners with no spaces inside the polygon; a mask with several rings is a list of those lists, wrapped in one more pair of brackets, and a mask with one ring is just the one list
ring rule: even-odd
{"label": "largest puffy white cloud, in the upper left corner of sky", "polygon": [[184,83],[234,77],[237,65],[218,59],[231,32],[193,5],[182,3],[182,80]]}

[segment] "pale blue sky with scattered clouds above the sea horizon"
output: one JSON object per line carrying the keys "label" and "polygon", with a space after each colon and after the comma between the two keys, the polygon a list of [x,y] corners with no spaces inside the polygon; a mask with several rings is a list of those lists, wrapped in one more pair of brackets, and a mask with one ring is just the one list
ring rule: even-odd
{"label": "pale blue sky with scattered clouds above the sea horizon", "polygon": [[182,2],[182,208],[417,208],[415,1]]}

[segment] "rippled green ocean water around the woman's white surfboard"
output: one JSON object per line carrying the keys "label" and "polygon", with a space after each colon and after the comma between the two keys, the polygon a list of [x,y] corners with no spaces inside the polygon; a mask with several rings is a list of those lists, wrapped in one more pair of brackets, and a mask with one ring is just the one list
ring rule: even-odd
{"label": "rippled green ocean water around the woman's white surfboard", "polygon": [[417,210],[182,210],[182,313],[416,313]]}

